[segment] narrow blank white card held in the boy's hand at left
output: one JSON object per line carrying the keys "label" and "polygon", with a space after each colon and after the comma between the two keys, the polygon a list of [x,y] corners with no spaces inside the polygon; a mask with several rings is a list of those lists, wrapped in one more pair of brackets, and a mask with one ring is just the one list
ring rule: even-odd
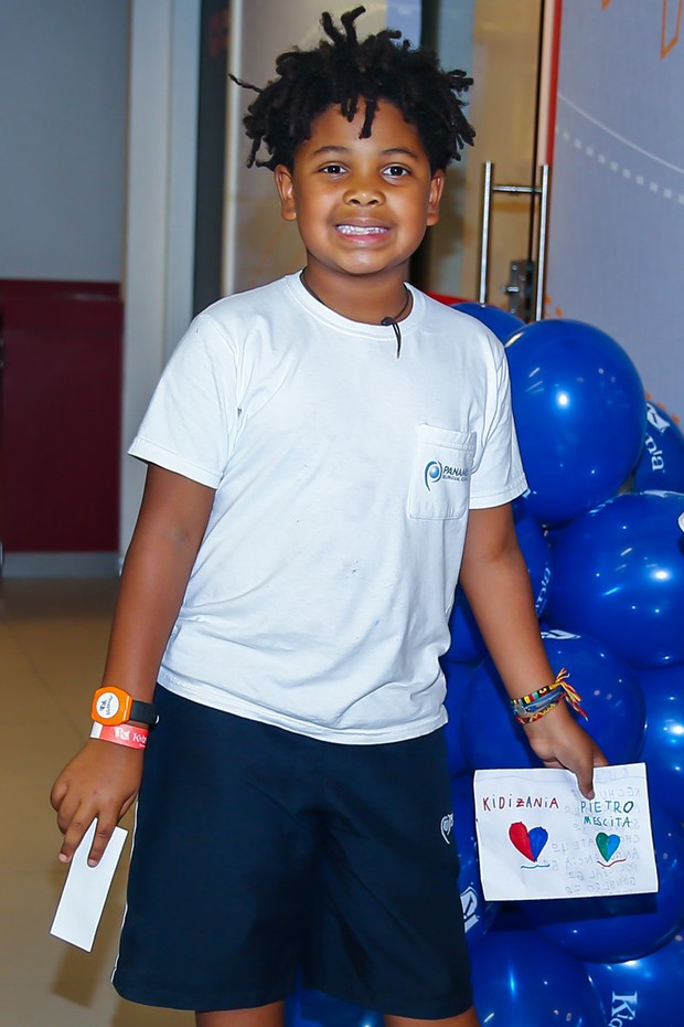
{"label": "narrow blank white card held in the boy's hand at left", "polygon": [[83,840],[72,856],[68,874],[62,890],[50,933],[89,952],[93,947],[105,900],[117,868],[126,835],[115,827],[105,854],[96,867],[88,867],[87,858],[95,836],[93,820]]}

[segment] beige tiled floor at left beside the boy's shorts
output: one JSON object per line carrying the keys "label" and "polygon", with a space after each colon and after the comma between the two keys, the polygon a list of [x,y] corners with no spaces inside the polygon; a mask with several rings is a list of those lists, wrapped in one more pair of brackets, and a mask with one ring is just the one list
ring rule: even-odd
{"label": "beige tiled floor at left beside the boy's shorts", "polygon": [[[0,1027],[192,1027],[109,983],[128,848],[90,953],[49,933],[65,876],[52,782],[89,730],[116,583],[0,582]],[[130,827],[130,816],[122,824]]]}

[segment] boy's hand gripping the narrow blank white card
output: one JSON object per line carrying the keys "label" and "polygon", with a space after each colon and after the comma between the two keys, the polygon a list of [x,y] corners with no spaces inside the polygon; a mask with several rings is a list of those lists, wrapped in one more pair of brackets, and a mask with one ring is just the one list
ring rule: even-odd
{"label": "boy's hand gripping the narrow blank white card", "polygon": [[94,819],[95,838],[88,866],[95,867],[107,848],[114,828],[135,802],[142,777],[142,752],[89,739],[55,781],[50,802],[64,835],[62,862],[70,862]]}

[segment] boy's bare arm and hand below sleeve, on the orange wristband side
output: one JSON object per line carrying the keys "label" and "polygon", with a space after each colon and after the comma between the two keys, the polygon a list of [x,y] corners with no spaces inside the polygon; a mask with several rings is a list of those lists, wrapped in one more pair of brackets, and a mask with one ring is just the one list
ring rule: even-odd
{"label": "boy's bare arm and hand below sleeve, on the orange wristband side", "polygon": [[[150,464],[140,514],[128,549],[103,684],[152,700],[157,673],[206,529],[214,491]],[[95,690],[95,688],[93,689]],[[57,777],[50,800],[64,834],[67,862],[97,817],[89,853],[99,859],[118,820],[135,801],[142,753],[89,739]]]}

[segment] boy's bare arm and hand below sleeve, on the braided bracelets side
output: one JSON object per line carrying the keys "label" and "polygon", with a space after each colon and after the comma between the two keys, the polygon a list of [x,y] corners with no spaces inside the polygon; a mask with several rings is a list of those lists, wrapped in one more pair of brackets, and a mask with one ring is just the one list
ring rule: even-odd
{"label": "boy's bare arm and hand below sleeve, on the braided bracelets side", "polygon": [[[509,696],[517,699],[552,684],[556,671],[541,638],[510,504],[470,511],[460,583]],[[567,703],[524,730],[546,766],[571,770],[581,793],[592,797],[594,767],[608,761]]]}

